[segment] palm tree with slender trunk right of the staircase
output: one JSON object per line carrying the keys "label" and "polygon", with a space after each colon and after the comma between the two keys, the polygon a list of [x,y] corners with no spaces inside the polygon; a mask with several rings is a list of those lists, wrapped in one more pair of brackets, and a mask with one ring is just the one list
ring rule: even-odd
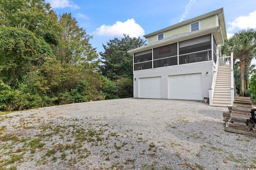
{"label": "palm tree with slender trunk right of the staircase", "polygon": [[224,39],[222,54],[234,52],[234,60],[240,61],[240,96],[244,96],[244,68],[256,56],[256,29],[238,31],[229,39]]}

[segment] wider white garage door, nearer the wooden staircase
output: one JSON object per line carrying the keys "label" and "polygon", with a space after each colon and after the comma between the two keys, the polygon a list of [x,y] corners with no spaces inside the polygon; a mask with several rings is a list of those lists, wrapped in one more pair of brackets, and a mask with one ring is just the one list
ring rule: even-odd
{"label": "wider white garage door, nearer the wooden staircase", "polygon": [[201,73],[169,76],[169,99],[202,100]]}

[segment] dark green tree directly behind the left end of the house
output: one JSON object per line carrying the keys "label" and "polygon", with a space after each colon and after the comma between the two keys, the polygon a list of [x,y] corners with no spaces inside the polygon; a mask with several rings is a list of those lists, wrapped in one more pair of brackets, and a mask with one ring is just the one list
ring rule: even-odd
{"label": "dark green tree directly behind the left end of the house", "polygon": [[116,80],[120,76],[132,79],[132,55],[127,51],[141,47],[146,41],[138,38],[131,38],[124,34],[124,38],[114,38],[107,45],[103,45],[104,52],[100,52],[101,63],[100,72],[102,75]]}

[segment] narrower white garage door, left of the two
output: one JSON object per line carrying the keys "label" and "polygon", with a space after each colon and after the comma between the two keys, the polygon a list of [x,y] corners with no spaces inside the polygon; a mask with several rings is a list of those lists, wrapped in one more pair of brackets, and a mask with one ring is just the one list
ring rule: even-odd
{"label": "narrower white garage door, left of the two", "polygon": [[161,98],[161,77],[139,78],[139,98]]}

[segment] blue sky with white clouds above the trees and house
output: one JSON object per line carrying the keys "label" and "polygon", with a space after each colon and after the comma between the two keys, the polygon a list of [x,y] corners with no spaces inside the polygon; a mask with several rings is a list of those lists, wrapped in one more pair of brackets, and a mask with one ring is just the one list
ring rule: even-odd
{"label": "blue sky with white clouds above the trees and house", "polygon": [[71,13],[92,47],[104,52],[102,43],[157,31],[180,21],[224,8],[228,36],[248,27],[256,28],[256,0],[45,0],[56,14]]}

